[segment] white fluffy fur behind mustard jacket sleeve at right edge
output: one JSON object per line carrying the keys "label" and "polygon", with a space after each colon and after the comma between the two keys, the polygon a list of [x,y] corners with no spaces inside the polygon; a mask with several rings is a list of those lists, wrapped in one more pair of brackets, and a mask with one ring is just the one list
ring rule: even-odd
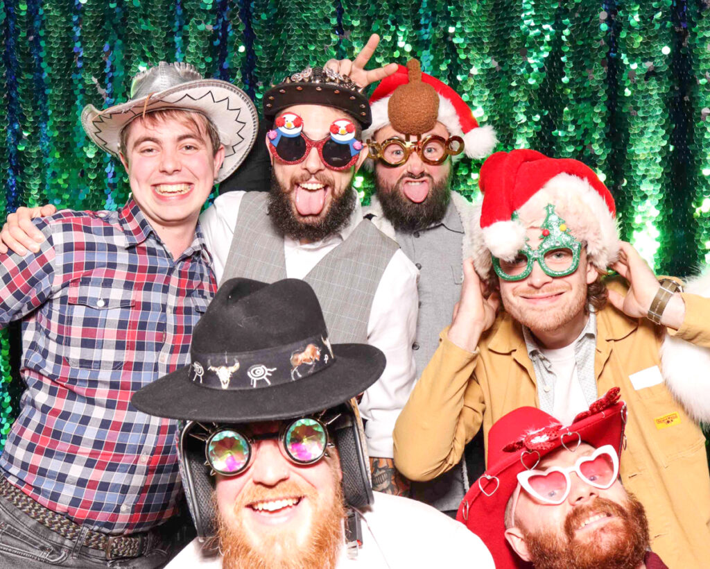
{"label": "white fluffy fur behind mustard jacket sleeve at right edge", "polygon": [[[685,292],[710,298],[710,268],[689,280]],[[661,369],[666,386],[686,413],[696,421],[710,422],[710,348],[665,335]]]}

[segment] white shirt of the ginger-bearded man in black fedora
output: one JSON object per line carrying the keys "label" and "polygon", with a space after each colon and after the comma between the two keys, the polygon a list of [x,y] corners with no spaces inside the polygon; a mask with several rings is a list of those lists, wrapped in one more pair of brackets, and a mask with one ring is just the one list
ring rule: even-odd
{"label": "white shirt of the ginger-bearded man in black fedora", "polygon": [[[427,504],[375,492],[375,504],[364,510],[363,545],[356,559],[345,548],[338,569],[417,569],[475,567],[494,569],[483,541],[464,524]],[[167,569],[221,569],[220,556],[203,556],[195,539],[178,553]]]}

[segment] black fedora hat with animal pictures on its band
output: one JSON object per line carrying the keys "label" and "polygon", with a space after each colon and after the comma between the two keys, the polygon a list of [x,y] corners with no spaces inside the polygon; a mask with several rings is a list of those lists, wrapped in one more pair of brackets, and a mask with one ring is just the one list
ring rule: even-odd
{"label": "black fedora hat with animal pictures on its band", "polygon": [[214,423],[272,421],[322,411],[373,384],[385,356],[331,345],[313,289],[232,278],[195,326],[192,364],[133,394],[144,413]]}

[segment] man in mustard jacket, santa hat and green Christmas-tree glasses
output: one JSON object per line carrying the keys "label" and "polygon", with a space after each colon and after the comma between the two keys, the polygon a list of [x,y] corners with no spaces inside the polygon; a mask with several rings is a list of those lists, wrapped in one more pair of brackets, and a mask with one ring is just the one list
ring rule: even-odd
{"label": "man in mustard jacket, santa hat and green Christmas-tree glasses", "polygon": [[[432,479],[515,408],[567,424],[619,386],[629,407],[621,479],[645,505],[651,546],[672,567],[703,567],[710,276],[685,292],[659,282],[620,241],[611,193],[579,161],[498,152],[479,185],[460,302],[398,418],[395,465]],[[608,269],[619,276],[603,279]]]}

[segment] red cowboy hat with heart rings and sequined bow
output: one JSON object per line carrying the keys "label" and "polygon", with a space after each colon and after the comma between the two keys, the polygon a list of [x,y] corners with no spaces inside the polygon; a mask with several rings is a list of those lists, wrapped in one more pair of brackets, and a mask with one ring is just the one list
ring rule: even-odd
{"label": "red cowboy hat with heart rings and sequined bow", "polygon": [[510,411],[488,433],[488,469],[471,484],[456,516],[484,541],[497,569],[525,566],[506,541],[505,512],[518,486],[518,473],[532,470],[558,448],[576,450],[584,442],[599,448],[612,445],[621,454],[626,427],[626,403],[613,387],[579,413],[569,426],[535,407]]}

